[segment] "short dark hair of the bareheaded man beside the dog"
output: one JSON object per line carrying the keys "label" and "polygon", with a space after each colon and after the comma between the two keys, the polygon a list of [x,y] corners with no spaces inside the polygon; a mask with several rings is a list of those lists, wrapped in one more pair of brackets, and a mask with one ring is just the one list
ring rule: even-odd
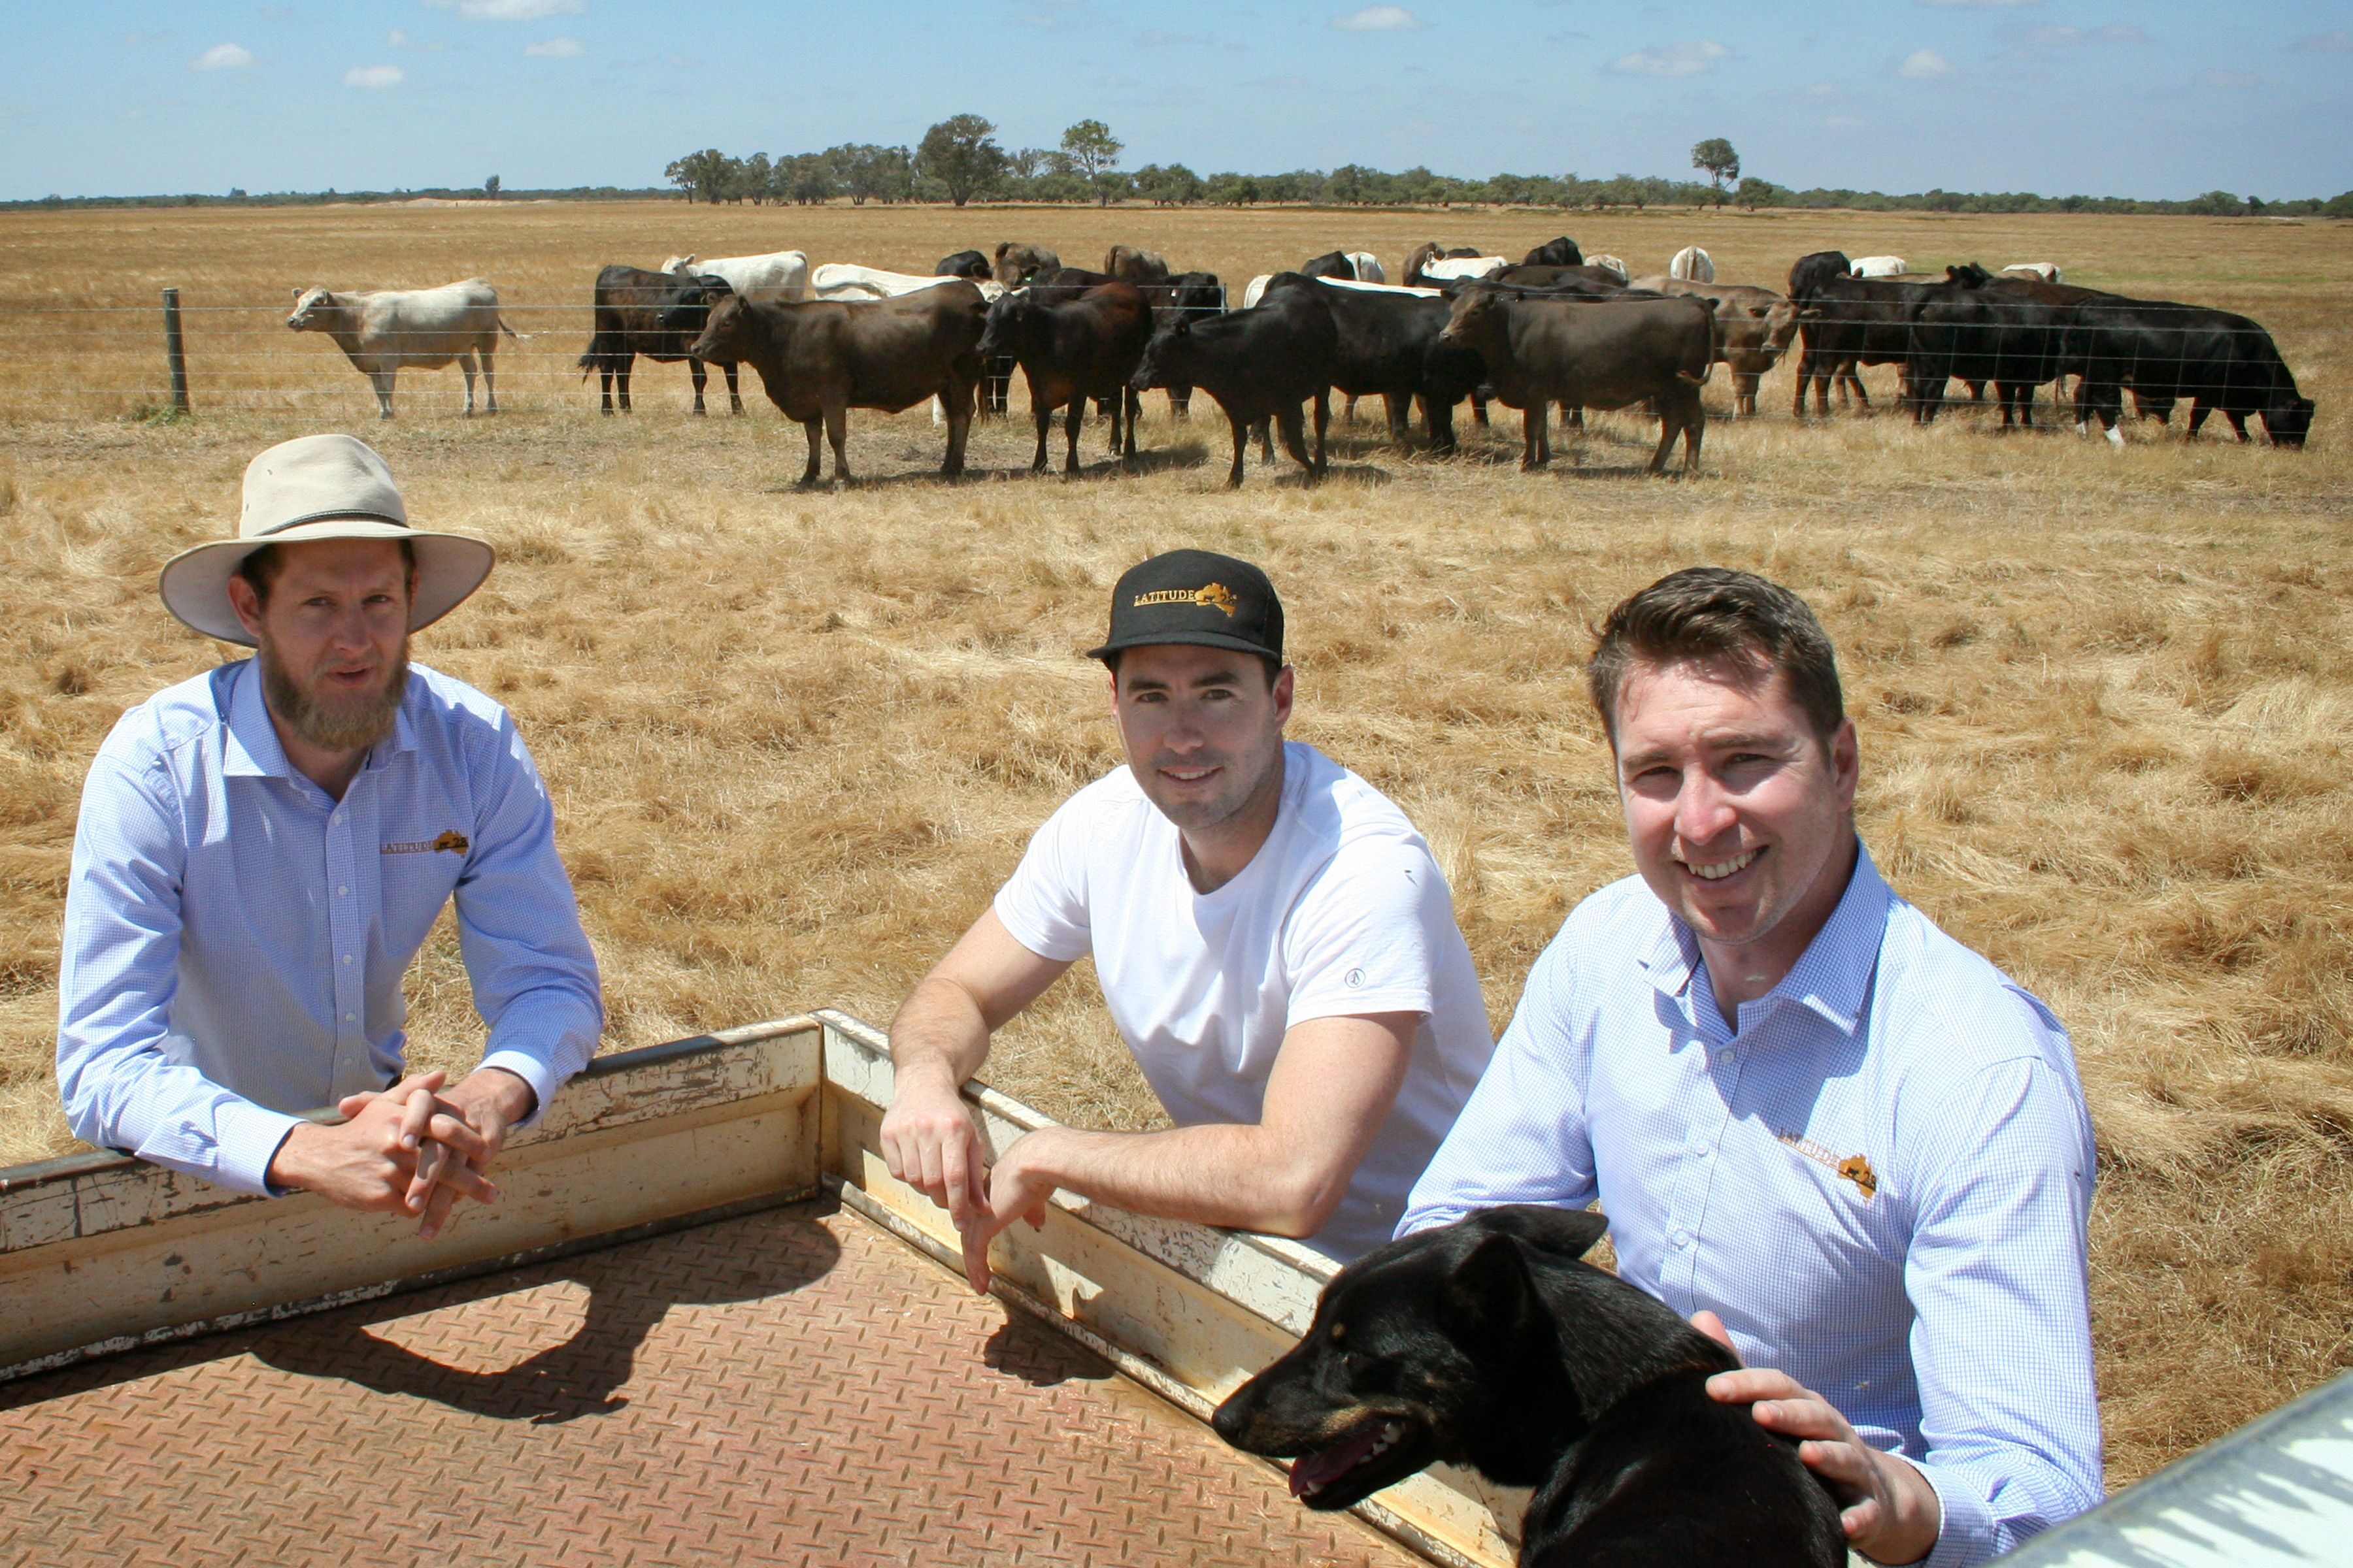
{"label": "short dark hair of the bareheaded man beside the dog", "polygon": [[1753,571],[1685,567],[1621,599],[1602,621],[1586,691],[1617,750],[1617,701],[1635,665],[1751,663],[1788,679],[1824,745],[1847,717],[1838,654],[1805,599]]}

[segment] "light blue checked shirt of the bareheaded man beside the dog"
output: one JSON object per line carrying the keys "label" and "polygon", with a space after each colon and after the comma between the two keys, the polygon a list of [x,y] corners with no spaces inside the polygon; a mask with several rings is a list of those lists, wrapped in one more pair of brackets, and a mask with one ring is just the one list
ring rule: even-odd
{"label": "light blue checked shirt of the bareheaded man beside the dog", "polygon": [[1937,1568],[2099,1502],[2092,1121],[2066,1030],[1868,853],[1737,1013],[1640,877],[1586,898],[1400,1234],[1598,1199],[1626,1281],[1720,1314],[1748,1366],[1920,1467]]}

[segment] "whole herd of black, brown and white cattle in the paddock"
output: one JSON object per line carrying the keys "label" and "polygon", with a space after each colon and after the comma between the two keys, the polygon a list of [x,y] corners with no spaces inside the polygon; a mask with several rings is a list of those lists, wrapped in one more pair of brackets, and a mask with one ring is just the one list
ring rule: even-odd
{"label": "whole herd of black, brown and white cattle in the paddock", "polygon": [[[1384,397],[1388,430],[1409,440],[1421,409],[1433,451],[1454,451],[1454,409],[1487,402],[1522,414],[1522,468],[1551,458],[1548,414],[1579,428],[1584,409],[1642,404],[1659,418],[1649,470],[1668,465],[1682,442],[1697,468],[1706,433],[1701,388],[1715,364],[1732,376],[1734,414],[1755,414],[1758,381],[1791,346],[1798,355],[1793,414],[1831,414],[1831,393],[1868,409],[1857,367],[1894,364],[1901,407],[1920,423],[1937,418],[1946,388],[1972,397],[1991,386],[2002,428],[2033,423],[2033,395],[2052,402],[2075,378],[2078,430],[2099,421],[2122,442],[2125,390],[2146,418],[2167,421],[2188,402],[2188,435],[2207,414],[2224,414],[2240,440],[2247,416],[2261,416],[2273,444],[2301,447],[2313,400],[2257,322],[2202,306],[2141,301],[2059,280],[2049,263],[1988,273],[1946,268],[1911,275],[1901,256],[1842,252],[1802,256],[1788,292],[1715,282],[1715,263],[1685,247],[1654,277],[1631,277],[1617,256],[1586,256],[1567,235],[1520,261],[1475,249],[1417,247],[1388,282],[1369,252],[1329,252],[1287,273],[1252,277],[1240,306],[1214,273],[1181,273],[1125,244],[1101,270],[1064,266],[1038,244],[1007,242],[993,256],[958,252],[934,273],[809,266],[802,252],[701,261],[671,256],[659,270],[609,266],[595,277],[595,334],[579,357],[598,376],[600,404],[628,411],[635,360],[685,362],[694,411],[704,411],[706,364],[727,378],[727,402],[741,414],[736,367],[751,364],[767,397],[809,440],[802,482],[816,482],[821,442],[833,447],[835,480],[849,480],[847,411],[901,411],[932,400],[946,425],[941,473],[965,468],[965,437],[976,411],[1005,414],[1012,371],[1028,381],[1038,425],[1031,468],[1047,468],[1054,414],[1064,414],[1064,468],[1078,473],[1078,433],[1092,402],[1108,418],[1115,456],[1136,451],[1139,393],[1167,390],[1179,418],[1202,388],[1233,425],[1228,484],[1242,482],[1242,458],[1257,435],[1273,461],[1273,435],[1311,475],[1325,473],[1332,393]],[[393,378],[402,367],[459,364],[466,414],[482,371],[496,411],[492,362],[499,296],[487,280],[438,289],[327,292],[296,289],[296,331],[327,331],[376,388],[376,409],[393,414]],[[1313,454],[1306,418],[1313,407]]]}

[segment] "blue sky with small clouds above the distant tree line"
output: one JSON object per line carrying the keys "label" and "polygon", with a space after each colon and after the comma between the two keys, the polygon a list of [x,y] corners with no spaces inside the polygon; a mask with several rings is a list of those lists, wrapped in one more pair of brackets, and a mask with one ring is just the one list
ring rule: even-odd
{"label": "blue sky with small clouds above the distant tree line", "polygon": [[0,197],[645,186],[960,110],[1202,174],[1682,174],[1729,136],[1784,186],[2334,195],[2353,2],[12,5]]}

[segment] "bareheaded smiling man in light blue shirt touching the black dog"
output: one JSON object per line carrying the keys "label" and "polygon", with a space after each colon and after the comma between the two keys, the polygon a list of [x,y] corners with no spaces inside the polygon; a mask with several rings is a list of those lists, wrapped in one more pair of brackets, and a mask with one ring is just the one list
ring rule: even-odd
{"label": "bareheaded smiling man in light blue shirt touching the black dog", "polygon": [[2101,1500],[2092,1126],[2066,1030],[1854,837],[1821,623],[1744,571],[1619,604],[1588,668],[1640,875],[1586,898],[1400,1234],[1600,1201],[1619,1274],[1729,1342],[1882,1563]]}

